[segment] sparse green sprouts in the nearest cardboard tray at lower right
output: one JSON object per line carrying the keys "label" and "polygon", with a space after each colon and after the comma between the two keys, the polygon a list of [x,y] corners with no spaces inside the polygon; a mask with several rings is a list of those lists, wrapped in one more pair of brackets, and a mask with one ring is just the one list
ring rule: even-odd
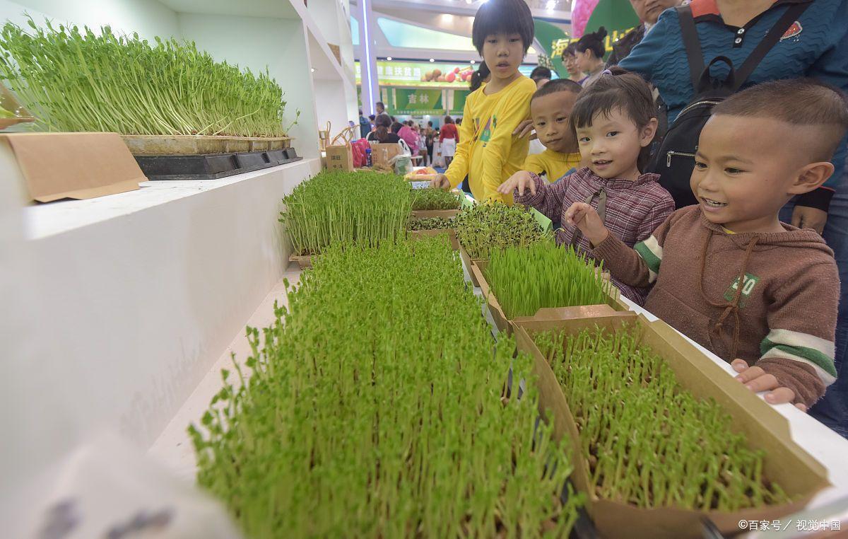
{"label": "sparse green sprouts in the nearest cardboard tray at lower right", "polygon": [[679,385],[633,328],[534,340],[566,394],[598,497],[702,511],[789,502],[762,475],[765,453],[732,430],[716,401]]}

